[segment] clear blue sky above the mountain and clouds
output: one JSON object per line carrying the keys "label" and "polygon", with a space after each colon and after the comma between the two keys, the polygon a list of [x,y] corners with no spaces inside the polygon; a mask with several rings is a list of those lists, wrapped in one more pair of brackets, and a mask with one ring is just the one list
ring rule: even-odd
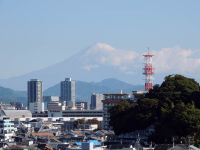
{"label": "clear blue sky above the mountain and clouds", "polygon": [[98,42],[124,51],[200,50],[199,6],[199,0],[0,0],[0,78],[42,69]]}

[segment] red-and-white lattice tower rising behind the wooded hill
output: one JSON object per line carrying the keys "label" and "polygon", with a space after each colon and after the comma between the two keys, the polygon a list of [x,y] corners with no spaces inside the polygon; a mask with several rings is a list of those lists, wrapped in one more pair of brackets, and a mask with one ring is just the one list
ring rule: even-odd
{"label": "red-and-white lattice tower rising behind the wooded hill", "polygon": [[149,91],[150,89],[153,89],[153,75],[154,75],[154,68],[152,67],[152,57],[154,55],[149,54],[149,48],[148,48],[148,54],[143,55],[145,59],[145,66],[144,66],[144,75],[145,75],[145,91]]}

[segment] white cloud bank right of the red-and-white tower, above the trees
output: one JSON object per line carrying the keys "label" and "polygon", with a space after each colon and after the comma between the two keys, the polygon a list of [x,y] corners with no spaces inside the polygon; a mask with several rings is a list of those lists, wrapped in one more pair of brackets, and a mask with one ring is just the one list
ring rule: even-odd
{"label": "white cloud bank right of the red-and-white tower, above the trees", "polygon": [[153,64],[157,73],[174,72],[181,74],[200,73],[200,50],[182,49],[179,46],[154,51]]}

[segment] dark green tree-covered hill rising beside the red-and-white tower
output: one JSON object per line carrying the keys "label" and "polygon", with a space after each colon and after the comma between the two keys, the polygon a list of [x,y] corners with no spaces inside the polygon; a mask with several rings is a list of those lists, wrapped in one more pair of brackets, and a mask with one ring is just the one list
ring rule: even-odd
{"label": "dark green tree-covered hill rising beside the red-and-white tower", "polygon": [[[145,98],[140,99],[138,105],[121,112],[118,110],[117,115],[120,117],[116,120],[116,116],[111,114],[110,121],[112,126],[116,126],[117,134],[154,125],[155,133],[150,138],[156,143],[171,143],[172,137],[186,142],[191,136],[193,142],[200,145],[200,87],[194,79],[169,75],[161,86],[155,85]],[[127,122],[127,118],[134,120],[134,124],[122,130],[127,128],[127,124],[121,122]],[[113,125],[113,120],[122,126]]]}

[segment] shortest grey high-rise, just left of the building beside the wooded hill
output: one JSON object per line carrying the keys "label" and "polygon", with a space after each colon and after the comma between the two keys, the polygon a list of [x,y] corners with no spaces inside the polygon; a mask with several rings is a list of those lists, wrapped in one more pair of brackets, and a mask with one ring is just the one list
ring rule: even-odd
{"label": "shortest grey high-rise, just left of the building beside the wooded hill", "polygon": [[95,94],[93,93],[91,95],[91,104],[90,104],[90,109],[91,110],[102,110],[103,109],[103,94]]}

